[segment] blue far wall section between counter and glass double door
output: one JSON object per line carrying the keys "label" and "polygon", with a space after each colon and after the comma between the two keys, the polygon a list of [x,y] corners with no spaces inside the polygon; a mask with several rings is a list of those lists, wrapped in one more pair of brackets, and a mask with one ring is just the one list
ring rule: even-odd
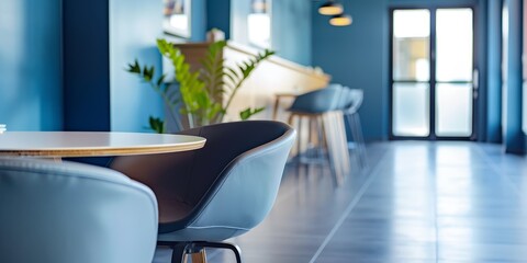
{"label": "blue far wall section between counter and glass double door", "polygon": [[313,65],[333,76],[333,82],[363,89],[360,114],[365,137],[388,139],[388,1],[344,3],[354,19],[344,27],[329,25],[328,18],[316,11],[319,3],[313,3]]}

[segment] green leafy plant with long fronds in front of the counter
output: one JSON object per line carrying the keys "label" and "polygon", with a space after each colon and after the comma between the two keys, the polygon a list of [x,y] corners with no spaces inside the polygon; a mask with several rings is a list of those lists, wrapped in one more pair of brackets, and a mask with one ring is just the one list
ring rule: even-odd
{"label": "green leafy plant with long fronds in front of the counter", "polygon": [[[154,66],[142,66],[137,59],[126,70],[137,75],[161,95],[173,119],[179,119],[173,115],[179,111],[189,117],[190,127],[220,123],[244,81],[260,61],[274,54],[266,49],[233,68],[224,64],[222,50],[225,46],[225,41],[212,43],[201,60],[201,69],[192,71],[179,48],[166,39],[157,39],[159,52],[175,68],[175,79],[167,81],[166,75],[155,79]],[[262,110],[247,107],[239,117],[247,119]],[[160,118],[150,116],[149,125],[157,133],[166,132],[166,122]],[[178,126],[182,128],[180,123]]]}

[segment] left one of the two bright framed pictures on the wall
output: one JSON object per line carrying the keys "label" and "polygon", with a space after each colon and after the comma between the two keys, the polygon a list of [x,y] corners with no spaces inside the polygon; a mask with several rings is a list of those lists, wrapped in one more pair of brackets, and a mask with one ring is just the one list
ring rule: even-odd
{"label": "left one of the two bright framed pictures on the wall", "polygon": [[164,0],[165,15],[162,27],[166,33],[190,37],[191,0]]}

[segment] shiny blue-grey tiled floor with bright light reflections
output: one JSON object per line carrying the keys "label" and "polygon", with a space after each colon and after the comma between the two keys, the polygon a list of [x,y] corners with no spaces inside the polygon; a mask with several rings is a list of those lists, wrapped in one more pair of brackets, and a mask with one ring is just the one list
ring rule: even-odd
{"label": "shiny blue-grey tiled floor with bright light reflections", "polygon": [[231,241],[248,263],[527,262],[527,160],[502,152],[372,144],[369,169],[339,187],[327,168],[289,167],[269,217]]}

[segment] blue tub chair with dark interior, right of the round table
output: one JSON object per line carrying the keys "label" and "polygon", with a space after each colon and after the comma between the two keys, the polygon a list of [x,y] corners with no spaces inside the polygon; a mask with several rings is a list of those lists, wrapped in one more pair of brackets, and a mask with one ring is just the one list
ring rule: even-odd
{"label": "blue tub chair with dark interior, right of the round table", "polygon": [[279,122],[247,121],[180,134],[206,144],[195,151],[119,157],[111,168],[155,192],[158,244],[173,249],[172,262],[204,256],[204,248],[229,249],[240,262],[238,248],[221,241],[249,231],[270,211],[295,132]]}

